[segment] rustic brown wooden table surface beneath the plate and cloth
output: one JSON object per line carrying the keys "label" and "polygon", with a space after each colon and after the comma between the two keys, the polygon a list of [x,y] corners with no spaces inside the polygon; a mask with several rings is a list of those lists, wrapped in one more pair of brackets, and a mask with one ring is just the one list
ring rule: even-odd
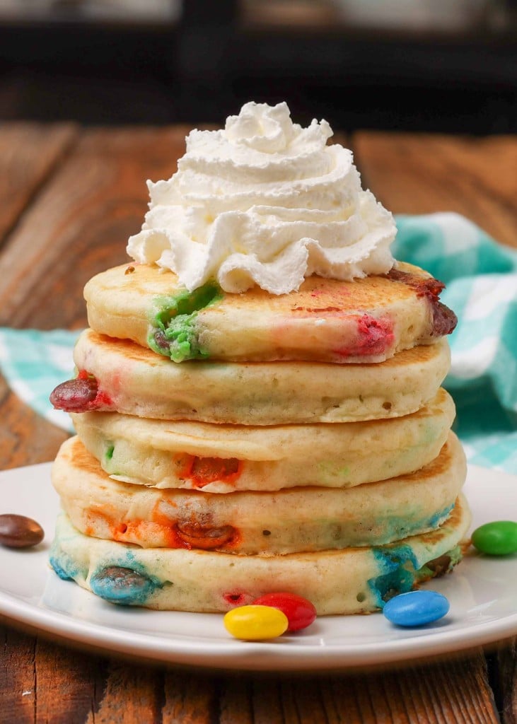
{"label": "rustic brown wooden table surface beneath the plate and cloth", "polygon": [[[187,130],[0,126],[0,325],[85,326],[83,285],[126,261],[127,237],[146,210],[144,181],[175,171]],[[391,211],[458,211],[517,246],[516,138],[358,132],[340,140]],[[0,469],[51,460],[65,438],[1,378],[0,416]],[[517,721],[515,641],[384,671],[235,675],[98,656],[4,623],[4,724]]]}

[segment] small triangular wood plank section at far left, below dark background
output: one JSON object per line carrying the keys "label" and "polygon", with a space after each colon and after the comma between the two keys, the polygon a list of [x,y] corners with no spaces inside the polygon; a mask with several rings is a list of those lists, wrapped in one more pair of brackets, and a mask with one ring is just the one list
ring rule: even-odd
{"label": "small triangular wood plank section at far left, below dark background", "polygon": [[0,125],[0,246],[77,135],[72,123]]}

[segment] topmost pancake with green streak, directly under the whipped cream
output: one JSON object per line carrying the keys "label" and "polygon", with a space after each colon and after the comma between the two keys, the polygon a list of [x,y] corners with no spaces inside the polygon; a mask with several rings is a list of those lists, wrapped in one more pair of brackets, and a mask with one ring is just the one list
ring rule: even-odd
{"label": "topmost pancake with green streak, directly under the whipped cream", "polygon": [[452,331],[442,287],[419,267],[398,264],[353,282],[308,277],[298,292],[277,296],[260,287],[227,294],[214,282],[189,293],[172,271],[125,264],[93,277],[85,300],[96,332],[176,362],[382,362]]}

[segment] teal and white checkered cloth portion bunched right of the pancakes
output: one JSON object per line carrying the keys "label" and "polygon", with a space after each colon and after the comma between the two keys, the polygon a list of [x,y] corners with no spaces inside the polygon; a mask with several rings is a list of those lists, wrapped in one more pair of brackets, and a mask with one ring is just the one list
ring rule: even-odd
{"label": "teal and white checkered cloth portion bunched right of the pancakes", "polygon": [[458,315],[444,386],[470,463],[517,473],[517,253],[458,214],[398,216],[393,254],[445,282]]}

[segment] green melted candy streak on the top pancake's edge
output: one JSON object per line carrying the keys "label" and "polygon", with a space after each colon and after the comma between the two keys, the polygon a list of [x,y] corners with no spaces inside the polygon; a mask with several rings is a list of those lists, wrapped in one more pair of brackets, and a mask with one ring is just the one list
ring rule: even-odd
{"label": "green melted candy streak on the top pancake's edge", "polygon": [[196,316],[198,311],[217,303],[224,297],[215,282],[175,296],[156,297],[151,309],[151,329],[148,345],[151,350],[174,362],[203,359],[209,352],[199,344]]}

